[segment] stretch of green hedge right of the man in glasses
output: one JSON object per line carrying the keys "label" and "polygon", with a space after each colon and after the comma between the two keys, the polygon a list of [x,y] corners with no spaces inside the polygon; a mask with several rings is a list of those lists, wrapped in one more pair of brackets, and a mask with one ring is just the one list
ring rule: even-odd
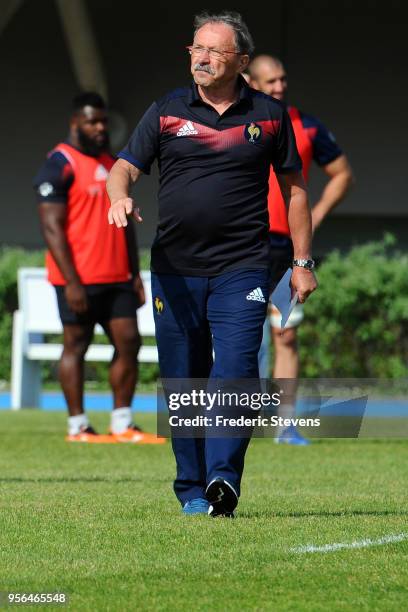
{"label": "stretch of green hedge right of the man in glasses", "polygon": [[408,364],[408,255],[387,234],[332,252],[299,328],[307,378],[402,378]]}

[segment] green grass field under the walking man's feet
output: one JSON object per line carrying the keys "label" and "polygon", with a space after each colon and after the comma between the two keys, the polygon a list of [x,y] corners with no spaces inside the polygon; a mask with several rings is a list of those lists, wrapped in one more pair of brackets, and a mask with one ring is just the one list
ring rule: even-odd
{"label": "green grass field under the walking man's feet", "polygon": [[254,440],[223,520],[180,513],[170,444],[64,432],[62,412],[0,412],[0,590],[65,591],[92,611],[407,609],[408,540],[291,550],[408,534],[407,441]]}

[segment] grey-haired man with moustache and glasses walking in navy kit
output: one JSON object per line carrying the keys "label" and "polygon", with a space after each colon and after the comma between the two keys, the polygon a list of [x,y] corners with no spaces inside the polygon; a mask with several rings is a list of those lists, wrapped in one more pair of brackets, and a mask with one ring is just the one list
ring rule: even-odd
{"label": "grey-haired man with moustache and glasses walking in navy kit", "polygon": [[[196,17],[193,83],[154,102],[108,178],[109,222],[141,221],[129,186],[160,170],[152,292],[164,379],[255,379],[270,290],[267,193],[272,164],[289,205],[293,289],[316,288],[311,217],[284,106],[240,73],[253,44],[237,13]],[[214,351],[214,360],[212,353]],[[232,516],[246,438],[173,438],[174,488],[187,514]]]}

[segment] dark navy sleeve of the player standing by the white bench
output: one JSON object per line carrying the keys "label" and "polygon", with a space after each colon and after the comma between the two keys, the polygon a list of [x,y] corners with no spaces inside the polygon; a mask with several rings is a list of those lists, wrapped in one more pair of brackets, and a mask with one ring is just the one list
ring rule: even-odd
{"label": "dark navy sleeve of the player standing by the white bench", "polygon": [[65,204],[74,174],[69,161],[59,151],[52,153],[34,179],[38,202]]}

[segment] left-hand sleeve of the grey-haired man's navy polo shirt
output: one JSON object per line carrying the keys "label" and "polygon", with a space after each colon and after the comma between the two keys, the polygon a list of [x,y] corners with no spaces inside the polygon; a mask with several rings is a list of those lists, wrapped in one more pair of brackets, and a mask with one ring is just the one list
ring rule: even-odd
{"label": "left-hand sleeve of the grey-haired man's navy polo shirt", "polygon": [[159,153],[160,115],[154,102],[141,118],[127,146],[118,154],[145,174]]}

